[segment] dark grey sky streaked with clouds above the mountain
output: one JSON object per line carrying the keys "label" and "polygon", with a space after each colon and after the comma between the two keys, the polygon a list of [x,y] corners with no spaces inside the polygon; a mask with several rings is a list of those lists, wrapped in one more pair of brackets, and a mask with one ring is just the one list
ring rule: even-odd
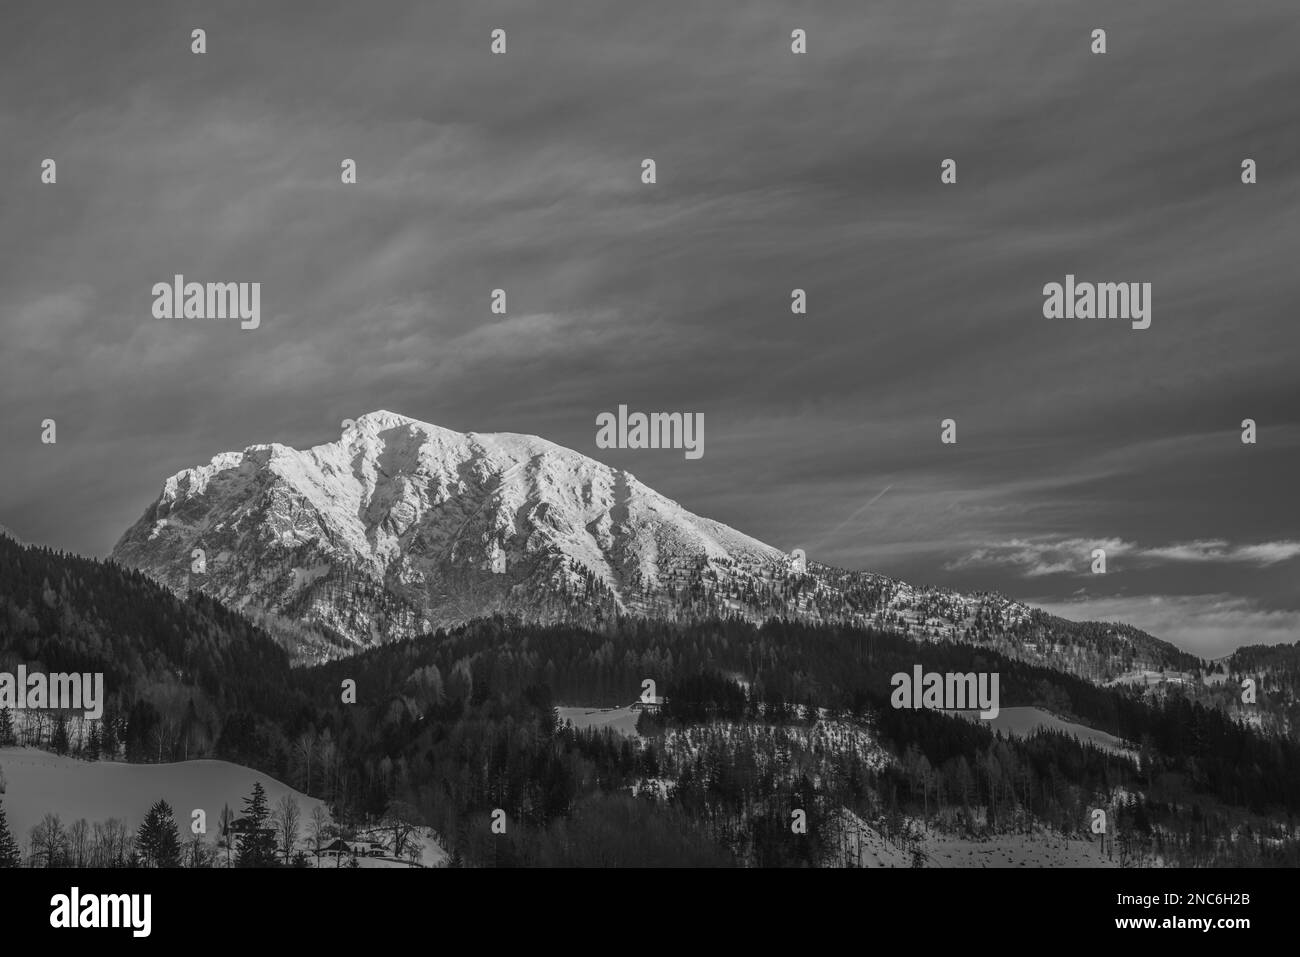
{"label": "dark grey sky streaked with clouds above the mountain", "polygon": [[[107,555],[177,471],[385,408],[543,436],[811,560],[1204,655],[1300,638],[1291,0],[6,21],[0,523],[26,541]],[[260,282],[261,325],[155,319],[177,273]],[[1152,283],[1150,328],[1044,317],[1066,274]],[[703,413],[703,456],[598,449],[620,404]]]}

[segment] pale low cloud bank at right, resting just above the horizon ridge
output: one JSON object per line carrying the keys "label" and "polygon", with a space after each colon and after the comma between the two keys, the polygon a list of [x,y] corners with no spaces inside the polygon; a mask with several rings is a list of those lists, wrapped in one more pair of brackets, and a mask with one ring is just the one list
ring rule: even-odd
{"label": "pale low cloud bank at right, resting just above the horizon ridge", "polygon": [[1290,645],[1300,635],[1300,610],[1264,609],[1231,594],[1114,596],[1039,602],[1074,622],[1123,622],[1202,658],[1218,658],[1243,645]]}

